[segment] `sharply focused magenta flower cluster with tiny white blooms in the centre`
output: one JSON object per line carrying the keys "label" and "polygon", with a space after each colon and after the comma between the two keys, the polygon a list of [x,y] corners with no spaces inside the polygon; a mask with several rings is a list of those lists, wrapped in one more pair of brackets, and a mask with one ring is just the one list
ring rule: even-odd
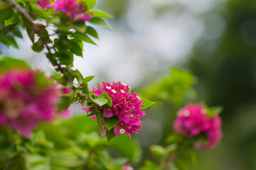
{"label": "sharply focused magenta flower cluster with tiny white blooms in the centre", "polygon": [[[145,113],[140,109],[143,101],[139,94],[136,92],[129,94],[129,85],[127,84],[121,84],[121,82],[107,83],[105,81],[103,81],[102,86],[98,84],[97,89],[93,89],[92,93],[100,96],[103,91],[106,91],[112,99],[112,106],[100,108],[103,111],[103,117],[112,118],[116,116],[119,119],[117,125],[114,126],[114,134],[116,136],[127,133],[132,135],[133,132],[140,130],[142,121],[139,118],[142,118]],[[90,108],[82,108],[82,110],[92,111]],[[97,120],[95,115],[92,118]],[[103,121],[102,124],[104,127],[102,136],[104,136],[107,128]]]}

